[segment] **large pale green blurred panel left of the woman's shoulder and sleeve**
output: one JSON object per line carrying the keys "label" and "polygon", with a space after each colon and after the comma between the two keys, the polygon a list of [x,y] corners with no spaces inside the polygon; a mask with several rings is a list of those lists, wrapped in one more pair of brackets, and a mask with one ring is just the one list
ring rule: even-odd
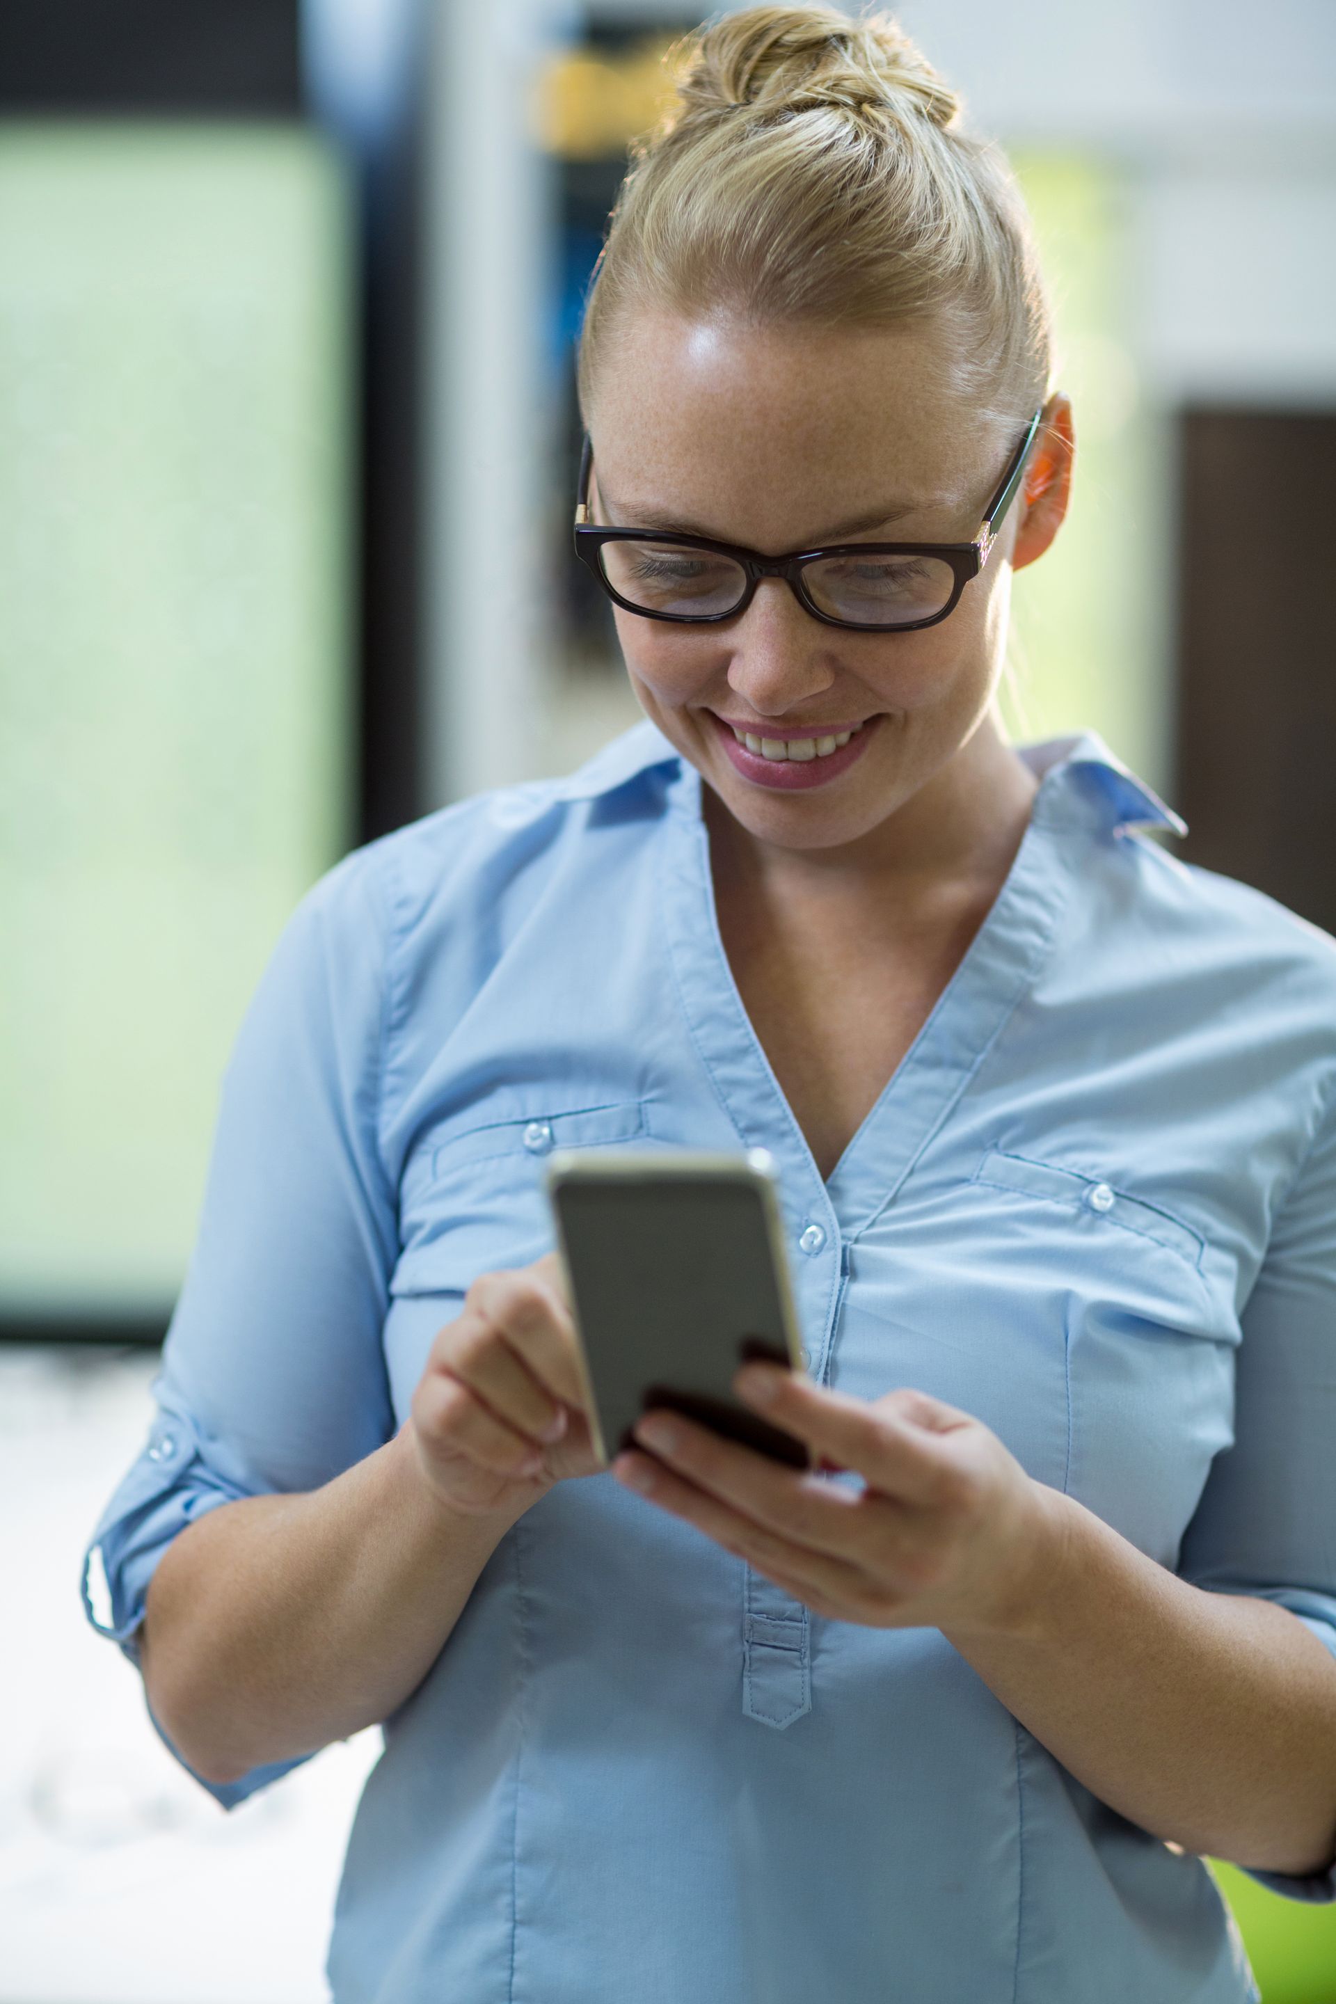
{"label": "large pale green blurred panel left of the woman's shoulder and sleeve", "polygon": [[0,1313],[162,1313],[240,1012],[351,830],[343,174],[0,126]]}

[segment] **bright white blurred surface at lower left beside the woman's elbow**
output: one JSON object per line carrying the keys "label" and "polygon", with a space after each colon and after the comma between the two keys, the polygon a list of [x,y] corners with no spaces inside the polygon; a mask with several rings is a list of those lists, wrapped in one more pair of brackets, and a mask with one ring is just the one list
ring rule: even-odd
{"label": "bright white blurred surface at lower left beside the woman's elbow", "polygon": [[[0,1349],[0,2004],[322,2004],[381,1731],[224,1812],[88,1627],[86,1539],[144,1443],[156,1351]],[[94,1611],[98,1607],[92,1583]]]}

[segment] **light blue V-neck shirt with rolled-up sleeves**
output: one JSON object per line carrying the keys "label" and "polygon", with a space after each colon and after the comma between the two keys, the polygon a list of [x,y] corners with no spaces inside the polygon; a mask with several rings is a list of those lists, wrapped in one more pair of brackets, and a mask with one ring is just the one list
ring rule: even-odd
{"label": "light blue V-neck shirt with rolled-up sleeves", "polygon": [[[1140,834],[1182,824],[1094,735],[1024,756],[1006,886],[827,1182],[653,725],[330,870],[226,1072],[160,1415],[92,1539],[104,1633],[136,1659],[190,1519],[391,1439],[475,1275],[551,1248],[551,1146],[765,1146],[817,1379],[975,1413],[1336,1649],[1336,946]],[[385,1721],[328,1976],[337,2004],[1256,1998],[1202,1862],[937,1629],[811,1615],[607,1473],[503,1537]]]}

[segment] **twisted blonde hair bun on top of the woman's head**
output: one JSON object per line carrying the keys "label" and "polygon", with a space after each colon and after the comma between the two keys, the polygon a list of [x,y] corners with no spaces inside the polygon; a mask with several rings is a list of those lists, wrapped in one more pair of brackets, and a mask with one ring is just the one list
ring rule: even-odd
{"label": "twisted blonde hair bun on top of the woman's head", "polygon": [[853,20],[823,6],[753,6],[725,14],[687,44],[679,118],[751,106],[791,116],[827,106],[949,126],[959,98],[889,14]]}

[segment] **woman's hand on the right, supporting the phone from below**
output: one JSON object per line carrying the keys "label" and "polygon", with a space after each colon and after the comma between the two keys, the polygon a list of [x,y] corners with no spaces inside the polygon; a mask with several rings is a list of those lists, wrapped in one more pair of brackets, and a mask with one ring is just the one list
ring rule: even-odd
{"label": "woman's hand on the right, supporting the phone from below", "polygon": [[[1048,1491],[981,1421],[909,1389],[867,1405],[773,1365],[745,1365],[733,1383],[807,1443],[813,1469],[659,1409],[635,1427],[651,1453],[617,1455],[617,1479],[813,1613],[959,1633],[1024,1625],[1062,1533]],[[817,1469],[853,1471],[863,1487]]]}

